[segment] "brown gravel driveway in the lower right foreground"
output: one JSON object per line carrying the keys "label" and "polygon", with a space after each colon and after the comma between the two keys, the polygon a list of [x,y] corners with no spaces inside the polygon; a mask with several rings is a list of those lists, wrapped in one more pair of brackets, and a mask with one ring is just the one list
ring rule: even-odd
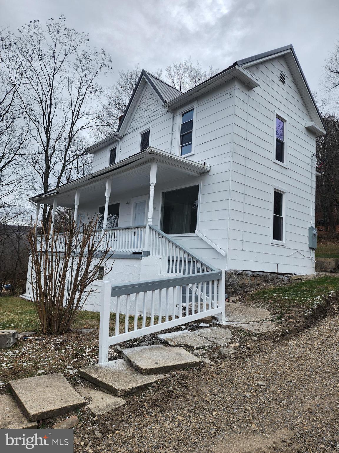
{"label": "brown gravel driveway in the lower right foreground", "polygon": [[75,451],[339,453],[339,317],[266,344],[245,360],[171,373],[76,429]]}

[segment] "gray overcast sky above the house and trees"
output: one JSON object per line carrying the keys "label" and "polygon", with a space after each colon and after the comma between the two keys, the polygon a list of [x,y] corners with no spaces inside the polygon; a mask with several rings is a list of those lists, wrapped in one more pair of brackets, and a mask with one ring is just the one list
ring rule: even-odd
{"label": "gray overcast sky above the house and trees", "polygon": [[64,14],[69,27],[111,54],[119,69],[155,71],[191,57],[224,69],[293,44],[312,91],[339,39],[338,0],[0,0],[0,29]]}

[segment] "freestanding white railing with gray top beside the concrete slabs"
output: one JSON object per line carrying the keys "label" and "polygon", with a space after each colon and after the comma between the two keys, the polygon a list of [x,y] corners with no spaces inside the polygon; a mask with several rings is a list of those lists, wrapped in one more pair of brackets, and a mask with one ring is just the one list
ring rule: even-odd
{"label": "freestanding white railing with gray top beside the concrete slabs", "polygon": [[[115,312],[113,335],[110,312]],[[225,319],[225,271],[112,286],[101,290],[99,363],[108,347],[211,315]]]}

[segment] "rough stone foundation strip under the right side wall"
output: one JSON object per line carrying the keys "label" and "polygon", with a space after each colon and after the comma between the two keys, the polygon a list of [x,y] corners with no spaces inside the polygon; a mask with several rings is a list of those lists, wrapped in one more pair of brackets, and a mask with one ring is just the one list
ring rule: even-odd
{"label": "rough stone foundation strip under the right side wall", "polygon": [[[278,282],[288,281],[292,274],[278,274]],[[226,293],[233,294],[234,290],[251,288],[263,283],[276,283],[276,272],[259,272],[251,270],[226,270]]]}

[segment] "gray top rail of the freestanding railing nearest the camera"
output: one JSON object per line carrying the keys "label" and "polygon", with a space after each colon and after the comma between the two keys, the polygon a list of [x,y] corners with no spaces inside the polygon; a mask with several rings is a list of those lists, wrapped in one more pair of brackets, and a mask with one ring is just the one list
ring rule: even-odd
{"label": "gray top rail of the freestanding railing nearest the camera", "polygon": [[155,289],[172,288],[186,284],[202,283],[211,280],[220,280],[222,272],[203,272],[202,274],[182,275],[180,277],[162,278],[155,280],[142,280],[136,283],[112,285],[111,297],[123,296],[125,294],[142,293]]}

